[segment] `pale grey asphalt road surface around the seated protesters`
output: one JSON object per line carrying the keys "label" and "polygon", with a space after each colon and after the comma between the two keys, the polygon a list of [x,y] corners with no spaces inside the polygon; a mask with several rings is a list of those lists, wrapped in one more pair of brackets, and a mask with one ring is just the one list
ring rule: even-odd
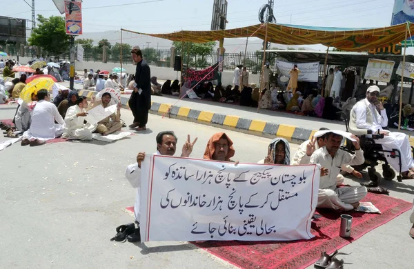
{"label": "pale grey asphalt road surface around the seated protesters", "polygon": [[[10,119],[15,106],[0,106]],[[122,110],[129,124],[132,115]],[[206,143],[223,131],[150,114],[148,130],[115,143],[64,142],[36,148],[14,144],[0,152],[0,268],[232,268],[186,242],[112,242],[115,228],[132,222],[135,189],[124,170],[137,152],[155,152],[155,136],[174,130],[177,155],[187,134],[198,137],[191,157],[202,157]],[[225,130],[240,162],[256,162],[270,139]],[[0,135],[0,141],[4,138]],[[290,152],[298,145],[291,144]],[[359,184],[358,179],[346,183]],[[414,181],[385,182],[391,196],[412,201]],[[342,248],[346,268],[412,268],[409,212]],[[310,268],[313,268],[310,267]]]}

